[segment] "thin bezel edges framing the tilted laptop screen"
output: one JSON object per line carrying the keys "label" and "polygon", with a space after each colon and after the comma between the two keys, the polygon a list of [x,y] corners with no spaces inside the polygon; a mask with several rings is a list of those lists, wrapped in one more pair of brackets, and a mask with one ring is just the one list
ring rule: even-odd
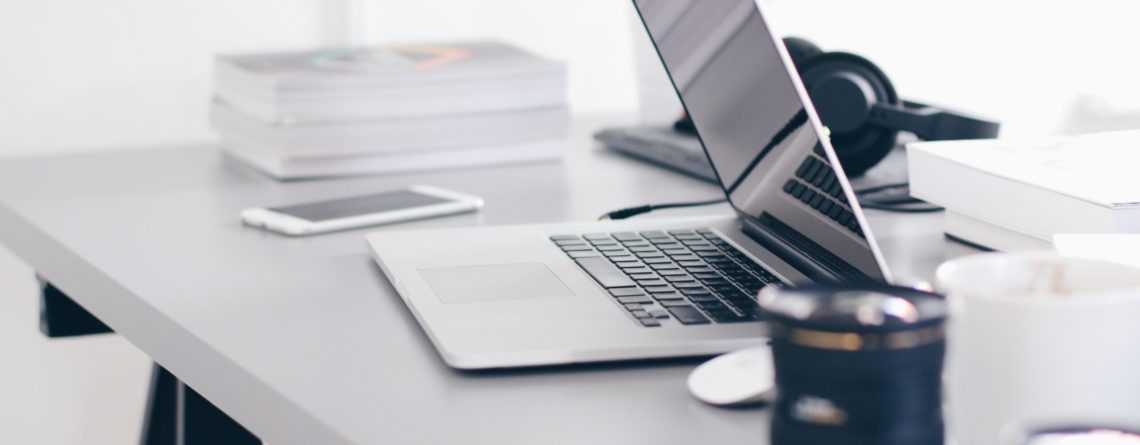
{"label": "thin bezel edges framing the tilted laptop screen", "polygon": [[[749,0],[741,0],[741,1],[749,1]],[[677,87],[677,82],[674,79],[674,74],[670,72],[668,64],[666,63],[663,56],[661,55],[661,50],[658,47],[658,42],[654,39],[653,33],[649,29],[649,24],[645,21],[641,7],[637,5],[637,0],[630,0],[630,2],[634,6],[634,10],[637,13],[637,17],[641,21],[641,24],[644,27],[646,35],[649,35],[650,42],[653,44],[653,50],[657,54],[658,59],[661,62],[661,66],[665,70],[666,75],[669,78],[669,84],[673,87],[674,94],[677,95],[677,100],[681,102],[681,105],[687,112],[689,107],[685,106],[684,95],[682,95],[679,88]],[[883,259],[881,250],[879,249],[879,243],[876,240],[874,234],[870,229],[870,225],[868,224],[866,215],[864,215],[863,209],[858,203],[858,199],[855,195],[854,188],[852,187],[850,181],[847,179],[847,173],[844,172],[842,170],[842,164],[839,162],[839,156],[836,154],[836,149],[831,145],[831,140],[828,137],[826,129],[824,128],[822,121],[820,120],[819,113],[816,113],[815,106],[812,103],[811,96],[808,96],[807,89],[804,87],[799,73],[796,71],[796,67],[792,64],[791,56],[788,54],[788,49],[784,47],[782,40],[776,35],[775,30],[773,30],[773,27],[769,25],[768,19],[764,14],[763,7],[755,0],[751,0],[751,2],[756,8],[755,14],[757,15],[758,19],[760,21],[760,23],[765,29],[765,32],[767,33],[769,43],[775,48],[776,54],[780,57],[780,63],[783,66],[783,74],[787,75],[788,79],[791,81],[792,88],[795,88],[796,97],[799,99],[800,105],[803,106],[804,111],[807,114],[807,123],[812,127],[812,131],[815,134],[816,140],[823,148],[824,156],[828,159],[832,169],[834,170],[836,179],[839,183],[840,187],[842,188],[844,195],[847,197],[847,203],[848,205],[850,205],[852,213],[854,215],[856,221],[858,221],[860,230],[862,232],[863,237],[868,242],[868,249],[871,251],[871,254],[874,259],[876,265],[878,266],[882,280],[887,283],[893,282],[890,270],[887,267],[887,262]],[[718,171],[716,163],[712,162],[712,155],[710,153],[708,144],[706,144],[705,140],[701,139],[700,137],[701,129],[697,123],[697,120],[693,120],[693,126],[697,129],[697,137],[701,143],[701,148],[705,152],[705,157],[712,167],[712,172],[714,175],[716,175],[717,184],[720,186],[720,191],[725,195],[725,201],[728,202],[733,211],[736,213],[736,218],[743,225],[743,232],[748,234],[750,237],[752,237],[755,241],[760,243],[762,245],[769,248],[769,250],[772,250],[773,253],[775,253],[777,257],[788,260],[789,264],[797,267],[797,269],[800,269],[801,273],[805,273],[806,275],[812,276],[814,278],[819,278],[821,274],[825,274],[820,269],[815,269],[809,264],[805,264],[804,261],[797,261],[793,258],[787,258],[787,256],[790,252],[781,252],[781,249],[773,249],[777,246],[772,245],[769,241],[764,238],[758,238],[757,235],[760,229],[758,229],[759,222],[757,221],[757,218],[752,217],[748,212],[744,212],[733,202],[731,195],[732,192],[728,189],[728,186],[725,184],[724,178],[720,176],[720,171]],[[809,270],[804,270],[804,268],[808,268]]]}

